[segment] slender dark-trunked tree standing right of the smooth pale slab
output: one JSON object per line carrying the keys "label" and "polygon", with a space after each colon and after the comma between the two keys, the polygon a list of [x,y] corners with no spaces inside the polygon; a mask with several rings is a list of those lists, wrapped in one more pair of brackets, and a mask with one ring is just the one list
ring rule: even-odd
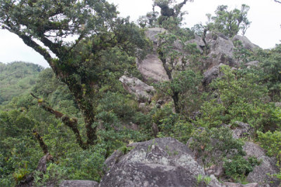
{"label": "slender dark-trunked tree standing right of the smooth pale slab", "polygon": [[[188,38],[171,33],[159,34],[157,53],[169,81],[159,83],[158,88],[174,101],[176,113],[181,113],[180,97],[188,90],[196,90],[199,78],[194,71],[187,70],[192,57],[199,54],[195,43],[186,43]],[[179,48],[176,48],[178,43]]]}

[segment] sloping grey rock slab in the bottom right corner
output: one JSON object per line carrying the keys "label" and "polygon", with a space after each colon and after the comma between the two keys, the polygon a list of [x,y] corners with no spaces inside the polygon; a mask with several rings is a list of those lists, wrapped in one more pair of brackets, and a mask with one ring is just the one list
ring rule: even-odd
{"label": "sloping grey rock slab in the bottom right corner", "polygon": [[260,146],[249,141],[245,142],[243,150],[246,152],[247,157],[255,156],[258,160],[262,160],[261,165],[256,166],[254,171],[249,173],[247,181],[259,183],[259,186],[280,186],[280,180],[268,175],[279,172],[276,166],[277,160],[269,158]]}

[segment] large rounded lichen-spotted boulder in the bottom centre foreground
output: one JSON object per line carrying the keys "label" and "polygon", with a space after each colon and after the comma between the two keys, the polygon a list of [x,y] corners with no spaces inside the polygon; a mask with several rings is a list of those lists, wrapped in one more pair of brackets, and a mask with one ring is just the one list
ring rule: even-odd
{"label": "large rounded lichen-spotted boulder in the bottom centre foreground", "polygon": [[[196,177],[205,176],[188,146],[173,138],[133,143],[126,155],[116,151],[105,161],[108,172],[102,186],[197,186]],[[199,186],[206,186],[201,182]],[[221,186],[212,179],[209,186]]]}

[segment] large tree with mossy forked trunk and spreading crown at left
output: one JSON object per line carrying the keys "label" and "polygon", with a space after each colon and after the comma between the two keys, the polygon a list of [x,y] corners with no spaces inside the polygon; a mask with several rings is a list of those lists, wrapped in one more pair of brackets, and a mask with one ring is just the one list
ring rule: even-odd
{"label": "large tree with mossy forked trunk and spreading crown at left", "polygon": [[[97,90],[100,72],[107,68],[103,63],[110,50],[133,56],[137,48],[144,48],[143,32],[128,19],[117,18],[116,7],[105,0],[0,0],[0,23],[2,29],[17,34],[41,54],[68,86],[84,116],[87,141],[82,141],[77,120],[51,109],[41,99],[39,104],[72,129],[81,148],[95,144]],[[70,41],[70,37],[76,40]]]}

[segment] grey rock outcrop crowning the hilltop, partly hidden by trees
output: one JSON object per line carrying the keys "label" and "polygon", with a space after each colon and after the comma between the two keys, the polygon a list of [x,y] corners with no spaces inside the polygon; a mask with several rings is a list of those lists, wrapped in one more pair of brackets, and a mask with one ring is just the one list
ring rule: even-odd
{"label": "grey rock outcrop crowning the hilltop, partly hidden by trees", "polygon": [[[164,67],[162,62],[159,60],[157,52],[155,48],[157,48],[157,34],[165,32],[165,29],[162,28],[150,28],[147,29],[145,34],[154,43],[154,50],[145,57],[144,60],[137,61],[138,70],[141,71],[145,80],[152,81],[168,81],[168,76],[166,75],[166,71],[164,71]],[[234,41],[241,41],[242,46],[247,48],[248,50],[254,50],[254,48],[259,48],[254,43],[251,43],[246,36],[236,35],[232,40],[228,39],[227,36],[210,32],[207,34],[205,38],[206,44],[203,40],[195,35],[195,39],[191,39],[187,43],[195,43],[197,45],[197,49],[203,53],[203,49],[208,48],[207,50],[207,59],[203,61],[202,68],[206,70],[206,74],[216,74],[214,71],[217,71],[217,67],[220,64],[226,64],[230,67],[237,67],[236,60],[233,58],[233,52],[235,46],[233,45]],[[174,47],[176,50],[182,50],[180,48],[181,45],[178,45],[177,42],[174,43]],[[254,63],[254,62],[253,62]],[[255,65],[249,64],[249,66]],[[248,65],[247,65],[248,66]],[[215,76],[213,76],[214,78]],[[205,82],[209,82],[209,78],[205,78]]]}

